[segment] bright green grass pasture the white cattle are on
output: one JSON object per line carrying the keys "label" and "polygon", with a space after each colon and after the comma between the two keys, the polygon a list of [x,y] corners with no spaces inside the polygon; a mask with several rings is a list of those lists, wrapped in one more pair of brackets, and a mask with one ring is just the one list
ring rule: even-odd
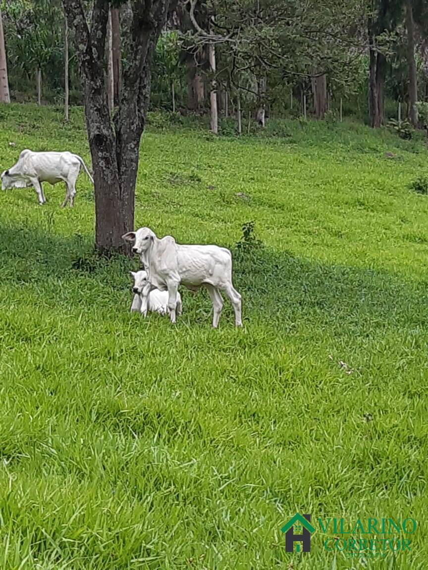
{"label": "bright green grass pasture the white cattle are on", "polygon": [[[0,120],[1,170],[23,148],[90,165],[80,109],[68,125],[31,105]],[[138,260],[95,258],[84,173],[74,209],[62,185],[43,207],[0,193],[0,569],[427,568],[422,140],[159,122],[136,226],[230,247],[244,327],[225,300],[211,329],[205,291],[182,291],[175,327],[130,314]],[[261,247],[237,249],[249,221]],[[326,552],[319,532],[292,554],[280,529],[296,511],[418,526],[383,560]]]}

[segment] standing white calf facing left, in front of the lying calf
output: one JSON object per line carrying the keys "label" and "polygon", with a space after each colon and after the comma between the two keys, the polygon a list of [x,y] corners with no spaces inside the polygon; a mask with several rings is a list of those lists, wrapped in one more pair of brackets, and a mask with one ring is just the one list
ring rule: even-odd
{"label": "standing white calf facing left, in front of the lying calf", "polygon": [[232,285],[232,254],[214,245],[179,245],[171,235],[159,239],[149,227],[140,227],[122,236],[134,243],[132,251],[140,255],[152,286],[168,290],[171,322],[175,323],[177,289],[180,283],[192,291],[206,287],[213,306],[212,325],[219,324],[224,291],[235,310],[235,324],[242,325],[241,295]]}

